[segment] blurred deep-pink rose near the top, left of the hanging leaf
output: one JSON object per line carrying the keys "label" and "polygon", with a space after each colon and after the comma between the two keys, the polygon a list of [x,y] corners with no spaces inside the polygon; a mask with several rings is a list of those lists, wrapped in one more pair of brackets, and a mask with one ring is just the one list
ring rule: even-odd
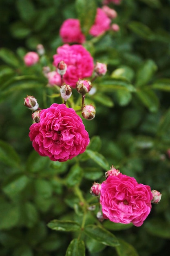
{"label": "blurred deep-pink rose near the top, left of the hanging leaf", "polygon": [[60,36],[64,43],[84,43],[85,36],[81,31],[80,22],[77,19],[67,19],[60,27]]}

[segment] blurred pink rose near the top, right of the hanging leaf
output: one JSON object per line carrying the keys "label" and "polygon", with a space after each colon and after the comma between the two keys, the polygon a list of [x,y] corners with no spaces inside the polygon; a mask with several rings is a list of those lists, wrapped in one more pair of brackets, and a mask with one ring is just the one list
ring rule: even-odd
{"label": "blurred pink rose near the top, right of the hanging leaf", "polygon": [[106,13],[101,8],[97,8],[95,23],[91,27],[89,34],[92,36],[102,35],[105,31],[110,29],[110,22],[111,20]]}

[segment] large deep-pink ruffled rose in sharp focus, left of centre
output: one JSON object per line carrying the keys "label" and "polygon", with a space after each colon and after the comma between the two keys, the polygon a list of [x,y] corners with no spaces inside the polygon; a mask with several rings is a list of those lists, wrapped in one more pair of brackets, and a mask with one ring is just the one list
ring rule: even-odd
{"label": "large deep-pink ruffled rose in sharp focus, left of centre", "polygon": [[57,103],[40,112],[40,123],[31,125],[29,137],[40,155],[59,162],[83,153],[89,144],[88,132],[75,110]]}

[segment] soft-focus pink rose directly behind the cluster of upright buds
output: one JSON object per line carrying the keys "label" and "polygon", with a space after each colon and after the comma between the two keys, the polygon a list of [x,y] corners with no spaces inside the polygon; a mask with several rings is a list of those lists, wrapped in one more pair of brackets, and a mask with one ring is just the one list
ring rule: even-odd
{"label": "soft-focus pink rose directly behind the cluster of upright buds", "polygon": [[76,87],[79,79],[84,79],[92,75],[94,64],[91,54],[82,45],[62,45],[57,48],[57,54],[53,56],[53,65],[57,67],[60,61],[67,65],[64,82]]}

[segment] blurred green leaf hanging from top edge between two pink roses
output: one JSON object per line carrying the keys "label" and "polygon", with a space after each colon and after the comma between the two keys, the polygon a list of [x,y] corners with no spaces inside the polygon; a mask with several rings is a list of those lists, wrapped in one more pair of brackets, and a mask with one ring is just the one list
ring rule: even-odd
{"label": "blurred green leaf hanging from top edge between two pink roses", "polygon": [[96,1],[76,0],[75,8],[77,10],[82,32],[87,35],[89,29],[95,22],[97,9]]}

